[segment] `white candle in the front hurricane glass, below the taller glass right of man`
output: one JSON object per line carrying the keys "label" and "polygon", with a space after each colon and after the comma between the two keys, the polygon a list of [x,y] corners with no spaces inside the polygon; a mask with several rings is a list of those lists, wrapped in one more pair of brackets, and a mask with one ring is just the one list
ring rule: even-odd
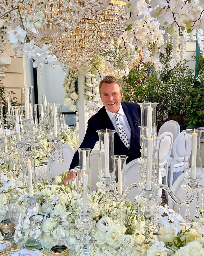
{"label": "white candle in the front hurricane glass, below the taller glass right of man", "polygon": [[146,174],[146,190],[151,190],[151,179],[152,179],[152,156],[153,156],[153,144],[151,135],[147,140],[147,174]]}

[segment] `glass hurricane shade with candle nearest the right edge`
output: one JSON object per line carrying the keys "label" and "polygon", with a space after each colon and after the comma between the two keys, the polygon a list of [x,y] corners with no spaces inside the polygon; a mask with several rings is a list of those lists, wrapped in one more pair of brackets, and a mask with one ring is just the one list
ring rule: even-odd
{"label": "glass hurricane shade with candle nearest the right edge", "polygon": [[184,174],[189,182],[200,181],[202,160],[200,155],[200,137],[202,130],[183,130],[185,136]]}

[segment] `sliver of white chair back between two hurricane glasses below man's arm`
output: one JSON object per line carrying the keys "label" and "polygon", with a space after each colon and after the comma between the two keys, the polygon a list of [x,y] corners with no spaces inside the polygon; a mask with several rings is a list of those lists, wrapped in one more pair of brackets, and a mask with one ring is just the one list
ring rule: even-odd
{"label": "sliver of white chair back between two hurricane glasses below man's arm", "polygon": [[92,185],[92,191],[97,189],[96,183],[100,181],[98,175],[98,161],[99,161],[99,149],[94,149],[90,153],[90,166],[93,167],[93,170],[91,171],[91,185]]}

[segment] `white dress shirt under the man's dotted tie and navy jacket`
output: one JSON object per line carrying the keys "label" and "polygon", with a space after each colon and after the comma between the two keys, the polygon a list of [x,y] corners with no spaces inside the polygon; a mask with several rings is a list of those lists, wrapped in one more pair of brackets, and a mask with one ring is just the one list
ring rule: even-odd
{"label": "white dress shirt under the man's dotted tie and navy jacket", "polygon": [[[117,125],[116,125],[116,120],[114,118],[116,113],[110,112],[107,108],[106,108],[106,112],[107,112],[109,118],[111,119],[111,122],[112,122],[116,132],[118,133],[118,129],[117,129]],[[122,126],[123,126],[123,128],[124,128],[124,130],[125,130],[125,132],[127,134],[129,143],[130,143],[130,131],[131,131],[131,129],[130,129],[130,125],[128,123],[128,119],[127,119],[127,117],[126,117],[126,115],[124,113],[124,110],[122,108],[121,103],[120,103],[120,108],[119,108],[117,113],[120,114],[120,116],[119,116],[120,123],[122,124]],[[119,135],[119,133],[118,133],[118,135]]]}

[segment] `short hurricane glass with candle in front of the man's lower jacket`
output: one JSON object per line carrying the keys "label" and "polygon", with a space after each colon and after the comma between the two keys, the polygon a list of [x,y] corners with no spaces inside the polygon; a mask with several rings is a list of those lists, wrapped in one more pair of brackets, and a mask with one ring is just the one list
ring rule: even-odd
{"label": "short hurricane glass with candle in front of the man's lower jacket", "polygon": [[115,155],[111,156],[113,159],[113,168],[116,175],[117,191],[118,195],[122,195],[127,188],[127,179],[126,179],[126,160],[128,156],[125,155]]}

